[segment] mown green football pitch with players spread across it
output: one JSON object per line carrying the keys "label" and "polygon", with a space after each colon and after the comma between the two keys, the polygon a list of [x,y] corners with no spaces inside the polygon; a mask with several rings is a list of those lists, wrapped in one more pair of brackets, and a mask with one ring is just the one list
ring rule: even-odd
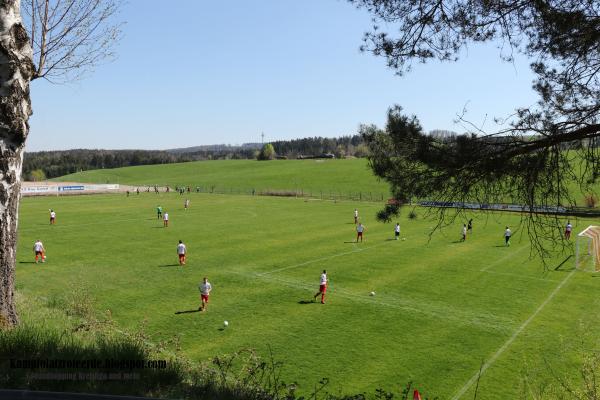
{"label": "mown green football pitch with players spread across it", "polygon": [[[156,219],[158,204],[170,214],[169,228]],[[285,381],[304,392],[328,377],[335,393],[413,381],[427,396],[451,399],[465,389],[468,399],[482,362],[480,399],[517,397],[524,377],[548,378],[547,365],[576,379],[581,338],[600,334],[598,278],[573,273],[572,259],[544,272],[520,231],[504,247],[514,214],[475,214],[473,234],[460,243],[458,225],[429,241],[433,224],[405,212],[406,240],[395,241],[393,225],[375,222],[378,207],[209,194],[24,198],[17,291],[51,308],[84,288],[120,328],[145,321],[151,340],[179,336],[183,353],[197,361],[271,349],[285,362]],[[49,208],[58,214],[55,226]],[[364,243],[353,243],[354,208],[367,227]],[[575,231],[590,223],[574,221]],[[37,238],[46,264],[32,263]],[[186,267],[177,265],[179,239],[188,246]],[[331,279],[327,304],[307,302],[323,269]],[[203,276],[214,288],[208,311],[176,314],[197,309]]]}

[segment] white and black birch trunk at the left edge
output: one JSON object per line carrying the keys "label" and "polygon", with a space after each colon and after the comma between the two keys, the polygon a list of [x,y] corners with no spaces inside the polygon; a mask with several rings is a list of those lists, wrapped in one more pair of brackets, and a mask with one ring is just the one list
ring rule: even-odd
{"label": "white and black birch trunk at the left edge", "polygon": [[33,70],[20,0],[0,0],[0,327],[18,322],[14,298],[17,219]]}

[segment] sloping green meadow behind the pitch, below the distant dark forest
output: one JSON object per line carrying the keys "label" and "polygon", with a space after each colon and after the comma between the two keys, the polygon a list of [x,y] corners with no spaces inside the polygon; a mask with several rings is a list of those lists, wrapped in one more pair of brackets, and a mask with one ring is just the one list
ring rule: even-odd
{"label": "sloping green meadow behind the pitch, below the distant dark forest", "polygon": [[389,193],[388,186],[373,176],[366,159],[198,161],[83,171],[56,180],[245,190],[298,189],[314,193],[371,192],[384,196]]}

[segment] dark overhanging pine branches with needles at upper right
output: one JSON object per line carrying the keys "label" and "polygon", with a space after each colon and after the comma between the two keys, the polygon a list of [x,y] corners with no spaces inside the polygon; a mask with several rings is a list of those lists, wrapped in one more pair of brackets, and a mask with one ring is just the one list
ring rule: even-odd
{"label": "dark overhanging pine branches with needles at upper right", "polygon": [[[540,215],[536,207],[572,206],[581,203],[576,193],[598,190],[600,3],[349,1],[373,16],[362,50],[385,57],[399,75],[414,62],[456,61],[474,42],[498,43],[504,60],[517,53],[532,60],[538,103],[517,108],[505,120],[507,128],[483,132],[463,120],[470,130],[466,135],[436,139],[422,132],[416,117],[394,107],[385,131],[364,127],[363,133],[374,172],[390,182],[400,200],[523,204],[529,213],[522,222],[538,253],[546,256],[557,249],[563,243],[557,214]],[[397,32],[382,31],[381,23]],[[397,211],[387,207],[380,217]],[[438,211],[440,225],[449,222],[451,213]]]}

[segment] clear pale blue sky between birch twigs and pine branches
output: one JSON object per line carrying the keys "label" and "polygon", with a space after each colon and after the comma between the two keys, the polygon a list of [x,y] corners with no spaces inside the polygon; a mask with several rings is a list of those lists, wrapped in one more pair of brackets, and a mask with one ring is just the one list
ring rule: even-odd
{"label": "clear pale blue sky between birch twigs and pine branches", "polygon": [[400,104],[463,131],[535,103],[527,60],[493,45],[398,77],[360,53],[370,16],[341,0],[130,0],[118,58],[76,83],[32,83],[27,151],[167,149],[355,134]]}

